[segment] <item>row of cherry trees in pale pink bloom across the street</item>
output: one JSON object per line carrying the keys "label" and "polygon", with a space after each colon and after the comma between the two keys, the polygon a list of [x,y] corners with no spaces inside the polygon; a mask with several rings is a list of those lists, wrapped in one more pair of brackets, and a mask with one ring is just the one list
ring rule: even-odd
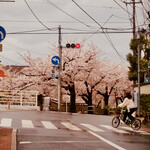
{"label": "row of cherry trees in pale pink bloom across the street", "polygon": [[[63,48],[62,55],[62,94],[70,97],[70,111],[75,112],[76,99],[81,99],[92,112],[93,97],[101,95],[105,105],[115,92],[122,94],[129,88],[127,67],[115,65],[103,58],[103,52],[95,45],[85,47],[85,40],[79,49]],[[55,52],[57,47],[53,48]],[[44,96],[57,99],[58,81],[51,77],[53,66],[50,58],[33,59],[30,54],[21,55],[28,63],[20,72],[6,70],[7,78],[0,82],[3,89],[37,90]],[[64,90],[68,87],[68,91]],[[100,101],[98,102],[100,103]]]}

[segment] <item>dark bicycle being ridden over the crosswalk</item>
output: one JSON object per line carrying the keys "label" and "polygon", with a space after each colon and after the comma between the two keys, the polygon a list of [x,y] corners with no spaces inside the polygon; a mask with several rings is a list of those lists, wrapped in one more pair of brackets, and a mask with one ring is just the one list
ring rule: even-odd
{"label": "dark bicycle being ridden over the crosswalk", "polygon": [[[123,117],[124,117],[124,110],[120,109],[119,114],[112,119],[112,126],[114,128],[117,128],[120,125],[120,121],[121,120],[123,121]],[[125,124],[130,126],[133,130],[139,130],[141,128],[141,120],[137,119],[136,117],[134,117],[134,119],[131,120],[127,116]]]}

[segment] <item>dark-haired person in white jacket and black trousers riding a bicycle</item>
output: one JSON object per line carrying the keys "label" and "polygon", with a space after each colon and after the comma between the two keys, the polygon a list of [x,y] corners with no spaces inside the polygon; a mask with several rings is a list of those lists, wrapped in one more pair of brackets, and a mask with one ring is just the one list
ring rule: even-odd
{"label": "dark-haired person in white jacket and black trousers riding a bicycle", "polygon": [[134,120],[134,117],[132,116],[133,112],[137,110],[137,108],[135,107],[135,104],[132,100],[132,96],[130,93],[126,93],[126,97],[123,101],[123,103],[118,105],[119,107],[123,108],[126,107],[127,110],[124,113],[124,117],[123,117],[123,121],[126,121],[127,116],[131,119]]}

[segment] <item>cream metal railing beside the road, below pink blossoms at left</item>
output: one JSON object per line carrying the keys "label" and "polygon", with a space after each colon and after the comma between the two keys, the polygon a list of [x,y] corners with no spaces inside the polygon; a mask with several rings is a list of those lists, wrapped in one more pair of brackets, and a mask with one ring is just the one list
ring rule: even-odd
{"label": "cream metal railing beside the road, below pink blossoms at left", "polygon": [[0,104],[37,106],[37,96],[37,91],[4,90],[0,91]]}

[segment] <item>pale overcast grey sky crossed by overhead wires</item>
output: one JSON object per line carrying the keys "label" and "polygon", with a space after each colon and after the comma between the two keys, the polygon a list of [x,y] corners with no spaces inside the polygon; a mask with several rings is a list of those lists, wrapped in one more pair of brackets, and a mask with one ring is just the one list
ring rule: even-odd
{"label": "pale overcast grey sky crossed by overhead wires", "polygon": [[[132,4],[126,5],[124,1],[131,2],[131,0],[0,2],[0,26],[6,30],[6,37],[1,42],[3,45],[3,51],[0,52],[1,64],[26,65],[19,54],[24,55],[28,52],[33,58],[57,55],[52,48],[53,44],[58,45],[58,27],[61,26],[62,46],[68,41],[80,43],[86,38],[86,45],[92,42],[104,52],[106,59],[127,65],[126,55],[131,52],[129,43],[133,37],[133,10]],[[138,27],[148,28],[146,11],[150,11],[149,0],[143,0],[143,5],[136,4],[136,30]]]}

